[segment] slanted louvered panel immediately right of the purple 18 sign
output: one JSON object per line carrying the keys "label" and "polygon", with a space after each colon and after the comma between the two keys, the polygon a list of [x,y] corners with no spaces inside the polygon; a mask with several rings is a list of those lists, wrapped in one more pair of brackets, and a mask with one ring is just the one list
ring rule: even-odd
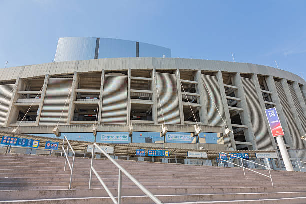
{"label": "slanted louvered panel immediately right of the purple 18 sign", "polygon": [[297,128],[297,125],[295,123],[295,119],[293,116],[293,113],[291,111],[287,96],[284,92],[284,89],[282,87],[282,84],[280,82],[275,81],[276,90],[279,96],[280,104],[282,106],[282,110],[284,113],[284,116],[286,118],[288,128],[290,131],[290,135],[292,137],[293,145],[297,149],[304,149],[305,146],[303,142],[301,142],[299,131]]}

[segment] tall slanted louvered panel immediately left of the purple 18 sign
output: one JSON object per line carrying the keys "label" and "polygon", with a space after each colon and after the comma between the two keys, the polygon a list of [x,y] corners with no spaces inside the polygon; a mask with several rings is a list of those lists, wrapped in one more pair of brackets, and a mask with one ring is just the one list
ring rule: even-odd
{"label": "tall slanted louvered panel immediately left of the purple 18 sign", "polygon": [[257,148],[258,150],[273,150],[269,127],[265,123],[265,113],[261,109],[254,81],[249,78],[241,78],[241,80]]}

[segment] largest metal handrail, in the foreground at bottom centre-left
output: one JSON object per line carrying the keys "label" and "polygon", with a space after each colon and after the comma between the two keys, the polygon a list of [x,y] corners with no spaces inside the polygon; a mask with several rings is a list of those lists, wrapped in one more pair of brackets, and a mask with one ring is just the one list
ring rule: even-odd
{"label": "largest metal handrail, in the foreground at bottom centre-left", "polygon": [[[95,147],[99,149],[117,168],[119,168],[119,177],[118,177],[118,201],[114,198],[106,184],[103,182],[101,177],[98,175],[96,170],[93,167],[93,157],[94,157],[94,149]],[[157,199],[150,191],[148,191],[141,183],[139,183],[131,174],[129,174],[122,166],[120,166],[113,158],[111,158],[103,149],[101,149],[96,143],[93,143],[92,148],[92,156],[91,156],[91,166],[90,166],[90,177],[89,177],[89,189],[91,189],[91,181],[92,181],[92,171],[106,190],[107,194],[115,204],[121,204],[121,192],[122,192],[122,172],[131,180],[133,183],[135,183],[142,192],[144,192],[147,196],[149,196],[153,202],[157,204],[162,204],[162,202]]]}

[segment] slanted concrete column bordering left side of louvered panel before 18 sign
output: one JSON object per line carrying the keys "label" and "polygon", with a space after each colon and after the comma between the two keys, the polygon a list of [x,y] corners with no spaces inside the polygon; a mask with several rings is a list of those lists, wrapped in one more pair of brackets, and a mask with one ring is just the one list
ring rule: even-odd
{"label": "slanted concrete column bordering left side of louvered panel before 18 sign", "polygon": [[247,106],[247,102],[246,102],[246,97],[244,94],[244,88],[243,88],[243,84],[242,84],[242,80],[241,80],[241,75],[240,73],[236,73],[233,77],[232,77],[232,82],[234,83],[234,86],[237,86],[238,89],[235,90],[235,96],[240,98],[241,101],[237,103],[239,108],[242,108],[243,111],[240,111],[240,118],[241,118],[241,122],[243,125],[247,126],[247,129],[244,129],[244,134],[245,134],[245,139],[247,142],[251,142],[252,143],[252,148],[253,150],[257,150],[257,144],[255,141],[255,136],[254,136],[254,131],[253,131],[253,126],[250,120],[250,115],[248,112],[248,106]]}

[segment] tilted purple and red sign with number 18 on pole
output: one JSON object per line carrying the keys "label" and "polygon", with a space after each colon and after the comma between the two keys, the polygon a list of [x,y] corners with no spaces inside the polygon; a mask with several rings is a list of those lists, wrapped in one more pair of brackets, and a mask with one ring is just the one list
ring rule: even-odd
{"label": "tilted purple and red sign with number 18 on pole", "polygon": [[273,136],[283,136],[283,130],[278,118],[278,114],[276,108],[265,109],[265,114],[268,118],[270,129],[272,131]]}

